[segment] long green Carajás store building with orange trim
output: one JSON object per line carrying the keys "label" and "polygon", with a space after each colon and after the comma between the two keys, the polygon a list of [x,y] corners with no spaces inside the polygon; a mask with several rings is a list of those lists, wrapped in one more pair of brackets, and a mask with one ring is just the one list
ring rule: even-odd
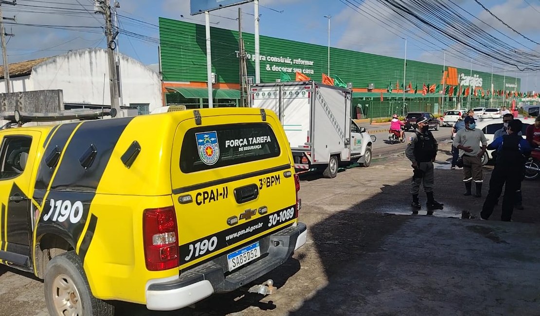
{"label": "long green Caraj\u00e1s store building with orange trim", "polygon": [[[205,26],[159,18],[159,37],[160,71],[166,105],[207,107]],[[242,37],[248,58],[248,78],[254,78],[254,35],[244,32]],[[238,32],[211,28],[211,49],[214,106],[238,106]],[[318,82],[322,81],[323,73],[328,75],[327,46],[260,36],[260,59],[263,83],[278,81],[282,73],[287,73],[294,80],[297,71]],[[401,113],[403,86],[406,89],[406,112],[442,113],[457,106],[511,106],[512,101],[521,97],[518,93],[521,91],[519,78],[475,70],[471,76],[470,69],[452,65],[443,69],[443,65],[415,60],[407,60],[403,85],[403,61],[400,58],[331,48],[329,75],[337,75],[343,82],[352,84],[354,118],[384,118],[392,113]],[[428,88],[425,95],[424,85]],[[416,87],[418,90],[414,93]],[[444,94],[444,90],[447,94]]]}

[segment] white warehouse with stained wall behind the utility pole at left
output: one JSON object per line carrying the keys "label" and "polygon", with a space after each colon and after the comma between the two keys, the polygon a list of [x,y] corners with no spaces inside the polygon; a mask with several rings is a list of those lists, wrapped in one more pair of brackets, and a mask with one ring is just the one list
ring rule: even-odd
{"label": "white warehouse with stained wall behind the utility pole at left", "polygon": [[[163,106],[160,75],[120,54],[122,106],[147,114]],[[9,64],[10,92],[62,90],[65,109],[110,107],[109,63],[104,49],[83,49]],[[5,93],[0,66],[0,93]]]}

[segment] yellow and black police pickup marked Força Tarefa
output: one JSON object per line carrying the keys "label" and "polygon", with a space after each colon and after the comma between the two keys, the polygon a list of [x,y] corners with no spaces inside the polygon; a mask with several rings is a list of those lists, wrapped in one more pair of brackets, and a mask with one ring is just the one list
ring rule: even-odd
{"label": "yellow and black police pickup marked For\u00e7a Tarefa", "polygon": [[0,263],[44,280],[51,315],[112,315],[110,300],[176,310],[250,285],[306,243],[271,111],[4,120]]}

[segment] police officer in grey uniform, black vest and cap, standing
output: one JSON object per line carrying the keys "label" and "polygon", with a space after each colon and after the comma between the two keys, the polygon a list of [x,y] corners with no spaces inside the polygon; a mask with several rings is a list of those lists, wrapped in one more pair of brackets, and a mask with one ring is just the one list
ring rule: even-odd
{"label": "police officer in grey uniform, black vest and cap, standing", "polygon": [[433,210],[443,209],[443,204],[435,201],[433,197],[433,162],[437,156],[437,141],[433,134],[429,131],[428,125],[429,119],[422,119],[418,122],[414,135],[409,137],[407,143],[407,149],[405,154],[407,158],[413,163],[413,181],[411,182],[410,193],[413,195],[413,214],[418,214],[418,210],[421,208],[418,194],[420,191],[420,184],[423,183],[424,192],[428,197],[426,206],[428,208],[428,215],[433,215]]}

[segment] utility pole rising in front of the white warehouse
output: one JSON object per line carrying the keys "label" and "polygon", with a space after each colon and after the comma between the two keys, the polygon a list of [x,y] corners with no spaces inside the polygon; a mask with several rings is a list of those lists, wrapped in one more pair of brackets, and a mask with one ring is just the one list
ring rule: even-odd
{"label": "utility pole rising in front of the white warehouse", "polygon": [[102,13],[105,17],[105,36],[107,38],[107,57],[109,58],[109,89],[111,92],[111,109],[116,109],[117,115],[122,117],[120,112],[120,94],[118,84],[118,72],[116,67],[116,56],[114,50],[117,48],[115,42],[118,36],[118,31],[113,32],[112,26],[112,12],[111,12],[111,0],[98,0],[99,13]]}

